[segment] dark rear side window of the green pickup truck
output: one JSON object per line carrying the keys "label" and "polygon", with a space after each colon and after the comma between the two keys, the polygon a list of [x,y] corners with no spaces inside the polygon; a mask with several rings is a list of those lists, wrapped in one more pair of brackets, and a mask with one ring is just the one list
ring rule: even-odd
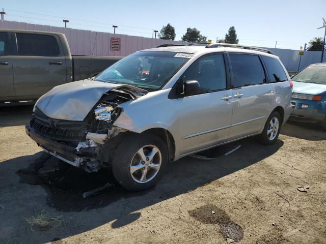
{"label": "dark rear side window of the green pickup truck", "polygon": [[57,39],[50,35],[17,33],[18,55],[58,56],[60,54]]}

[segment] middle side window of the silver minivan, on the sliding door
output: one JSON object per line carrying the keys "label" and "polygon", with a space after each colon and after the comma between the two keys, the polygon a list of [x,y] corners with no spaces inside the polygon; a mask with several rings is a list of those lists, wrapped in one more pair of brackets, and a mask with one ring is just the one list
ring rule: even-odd
{"label": "middle side window of the silver minivan, on the sliding door", "polygon": [[233,87],[262,84],[265,72],[257,55],[230,54]]}

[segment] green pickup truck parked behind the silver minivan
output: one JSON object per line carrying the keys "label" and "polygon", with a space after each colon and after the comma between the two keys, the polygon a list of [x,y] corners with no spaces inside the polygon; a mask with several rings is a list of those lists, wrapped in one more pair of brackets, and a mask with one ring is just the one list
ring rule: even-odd
{"label": "green pickup truck parked behind the silver minivan", "polygon": [[119,59],[71,55],[61,33],[0,29],[0,106],[35,102],[52,87],[93,77]]}

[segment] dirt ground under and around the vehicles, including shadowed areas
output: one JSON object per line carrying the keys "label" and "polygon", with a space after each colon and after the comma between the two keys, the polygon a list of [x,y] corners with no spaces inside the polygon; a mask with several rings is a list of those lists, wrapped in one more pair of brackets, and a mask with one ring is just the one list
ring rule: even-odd
{"label": "dirt ground under and around the vehicles, including shadowed areas", "polygon": [[0,108],[0,243],[326,243],[317,126],[288,123],[273,146],[249,138],[216,160],[183,158],[155,188],[130,193],[110,171],[46,173],[58,161],[26,136],[31,110]]}

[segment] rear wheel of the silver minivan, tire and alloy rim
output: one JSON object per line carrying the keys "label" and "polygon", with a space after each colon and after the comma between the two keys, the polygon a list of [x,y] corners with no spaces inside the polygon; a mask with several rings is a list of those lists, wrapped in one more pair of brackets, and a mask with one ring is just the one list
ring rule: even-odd
{"label": "rear wheel of the silver minivan, tire and alloy rim", "polygon": [[[277,124],[275,123],[277,121]],[[274,122],[274,126],[271,126],[271,123]],[[276,125],[276,126],[275,126]],[[282,126],[282,118],[279,112],[273,111],[264,126],[264,130],[258,136],[257,141],[263,145],[271,145],[274,144],[279,137]],[[276,128],[276,129],[275,129]],[[273,132],[268,133],[267,131],[273,130]],[[273,135],[271,134],[273,133]]]}

